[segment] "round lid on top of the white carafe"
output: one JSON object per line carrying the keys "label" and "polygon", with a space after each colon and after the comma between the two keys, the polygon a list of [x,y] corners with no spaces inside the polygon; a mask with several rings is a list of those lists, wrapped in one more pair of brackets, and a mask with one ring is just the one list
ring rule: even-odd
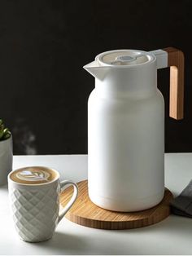
{"label": "round lid on top of the white carafe", "polygon": [[146,51],[137,50],[115,50],[105,51],[96,56],[99,65],[110,66],[133,66],[148,64],[155,60],[155,56]]}

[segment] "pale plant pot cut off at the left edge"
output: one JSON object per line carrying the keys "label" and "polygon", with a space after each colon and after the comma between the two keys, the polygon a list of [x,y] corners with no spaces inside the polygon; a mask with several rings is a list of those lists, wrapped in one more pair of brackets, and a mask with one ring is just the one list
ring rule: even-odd
{"label": "pale plant pot cut off at the left edge", "polygon": [[0,186],[7,184],[7,175],[12,170],[13,147],[12,135],[9,139],[0,141]]}

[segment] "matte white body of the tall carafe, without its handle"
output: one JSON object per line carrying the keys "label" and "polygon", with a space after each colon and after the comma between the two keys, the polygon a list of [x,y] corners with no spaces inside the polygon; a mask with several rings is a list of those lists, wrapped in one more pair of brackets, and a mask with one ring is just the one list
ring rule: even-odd
{"label": "matte white body of the tall carafe, without its handle", "polygon": [[164,196],[164,99],[156,85],[156,58],[101,66],[101,56],[95,73],[91,64],[96,79],[88,104],[89,198],[108,210],[145,210]]}

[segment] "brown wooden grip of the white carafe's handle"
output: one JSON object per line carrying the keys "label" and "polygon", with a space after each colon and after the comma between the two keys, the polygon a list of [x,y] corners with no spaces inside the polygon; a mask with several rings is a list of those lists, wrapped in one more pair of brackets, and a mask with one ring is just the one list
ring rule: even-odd
{"label": "brown wooden grip of the white carafe's handle", "polygon": [[169,116],[180,120],[183,118],[184,103],[184,54],[173,47],[162,50],[168,52],[168,67],[170,67]]}

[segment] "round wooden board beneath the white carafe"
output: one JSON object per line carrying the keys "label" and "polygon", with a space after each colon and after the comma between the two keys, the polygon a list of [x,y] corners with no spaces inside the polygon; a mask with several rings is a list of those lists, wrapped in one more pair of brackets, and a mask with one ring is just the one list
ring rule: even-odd
{"label": "round wooden board beneath the white carafe", "polygon": [[[87,180],[77,183],[79,195],[72,208],[65,215],[73,223],[86,227],[102,229],[129,229],[146,227],[159,223],[170,214],[169,203],[172,200],[172,192],[165,188],[164,199],[149,210],[142,210],[132,213],[121,213],[94,205],[89,200],[87,191]],[[67,188],[60,196],[61,204],[64,206],[72,196],[72,187]]]}

